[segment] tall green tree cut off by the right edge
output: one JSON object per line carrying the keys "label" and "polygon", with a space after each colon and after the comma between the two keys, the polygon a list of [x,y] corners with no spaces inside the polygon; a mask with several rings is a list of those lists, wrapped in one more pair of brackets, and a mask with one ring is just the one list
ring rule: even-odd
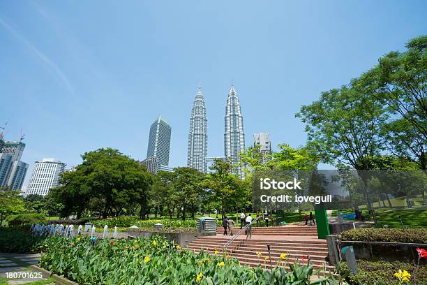
{"label": "tall green tree cut off by the right edge", "polygon": [[[405,52],[389,52],[358,84],[386,105],[391,113],[382,125],[384,143],[427,174],[427,36],[412,38]],[[423,193],[424,203],[426,203]]]}

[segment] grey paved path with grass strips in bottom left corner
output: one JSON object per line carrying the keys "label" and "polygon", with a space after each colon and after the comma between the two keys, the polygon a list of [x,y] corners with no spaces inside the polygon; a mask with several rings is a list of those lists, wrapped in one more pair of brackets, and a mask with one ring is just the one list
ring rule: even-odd
{"label": "grey paved path with grass strips in bottom left corner", "polygon": [[0,253],[0,284],[18,285],[18,284],[31,284],[32,282],[46,282],[45,284],[54,284],[50,280],[40,278],[7,278],[8,272],[25,272],[27,275],[30,272],[36,273],[31,265],[37,264],[40,261],[40,254],[1,254]]}

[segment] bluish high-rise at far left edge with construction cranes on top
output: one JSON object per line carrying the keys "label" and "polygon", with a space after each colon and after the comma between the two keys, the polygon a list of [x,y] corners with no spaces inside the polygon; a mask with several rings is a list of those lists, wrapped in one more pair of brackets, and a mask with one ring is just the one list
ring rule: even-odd
{"label": "bluish high-rise at far left edge with construction cranes on top", "polygon": [[27,174],[28,164],[21,160],[25,144],[22,141],[4,141],[0,136],[0,187],[20,190]]}

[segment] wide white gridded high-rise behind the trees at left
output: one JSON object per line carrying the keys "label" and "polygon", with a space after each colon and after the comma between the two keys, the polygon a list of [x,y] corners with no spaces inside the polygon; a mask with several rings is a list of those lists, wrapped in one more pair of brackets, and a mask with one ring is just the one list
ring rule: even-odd
{"label": "wide white gridded high-rise behind the trees at left", "polygon": [[59,186],[59,180],[65,167],[66,163],[55,159],[36,161],[27,186],[26,195],[46,196],[51,188]]}

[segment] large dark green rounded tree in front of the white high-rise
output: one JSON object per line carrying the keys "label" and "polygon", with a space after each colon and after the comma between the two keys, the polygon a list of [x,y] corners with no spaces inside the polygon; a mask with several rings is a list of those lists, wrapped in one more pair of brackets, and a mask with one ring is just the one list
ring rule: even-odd
{"label": "large dark green rounded tree in front of the white high-rise", "polygon": [[80,218],[94,200],[104,218],[135,205],[145,217],[153,178],[144,166],[111,148],[86,152],[82,159],[74,171],[64,173],[62,186],[52,189],[52,196],[63,204],[63,217],[75,212]]}

